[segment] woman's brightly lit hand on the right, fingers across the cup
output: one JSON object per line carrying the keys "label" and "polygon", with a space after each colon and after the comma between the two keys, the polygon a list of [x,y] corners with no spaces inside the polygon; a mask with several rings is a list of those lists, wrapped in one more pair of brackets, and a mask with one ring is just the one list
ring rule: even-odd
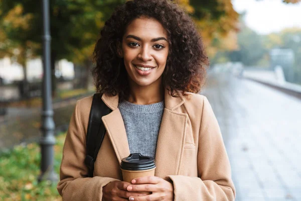
{"label": "woman's brightly lit hand on the right, fingers across the cup", "polygon": [[133,184],[127,186],[128,191],[150,191],[149,195],[129,197],[130,201],[136,200],[174,200],[174,186],[171,182],[157,176],[144,176],[135,178],[131,181]]}

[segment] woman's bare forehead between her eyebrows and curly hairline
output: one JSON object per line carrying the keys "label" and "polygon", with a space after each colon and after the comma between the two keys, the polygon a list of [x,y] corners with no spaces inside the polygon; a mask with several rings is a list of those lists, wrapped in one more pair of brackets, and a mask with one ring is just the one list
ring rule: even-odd
{"label": "woman's bare forehead between her eyebrows and curly hairline", "polygon": [[135,35],[141,38],[166,37],[166,30],[162,24],[154,18],[136,18],[126,28],[124,36]]}

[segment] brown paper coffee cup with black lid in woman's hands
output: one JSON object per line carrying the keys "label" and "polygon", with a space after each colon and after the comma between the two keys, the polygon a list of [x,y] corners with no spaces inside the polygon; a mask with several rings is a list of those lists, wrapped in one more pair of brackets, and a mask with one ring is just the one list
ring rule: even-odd
{"label": "brown paper coffee cup with black lid in woman's hands", "polygon": [[[132,179],[143,176],[155,176],[155,159],[139,153],[130,154],[121,160],[120,168],[123,181],[131,183]],[[149,193],[149,192],[143,192]]]}

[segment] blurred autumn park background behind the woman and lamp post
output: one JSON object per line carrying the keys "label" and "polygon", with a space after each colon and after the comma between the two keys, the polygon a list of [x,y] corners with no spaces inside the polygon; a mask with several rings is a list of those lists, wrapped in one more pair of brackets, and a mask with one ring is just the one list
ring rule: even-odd
{"label": "blurred autumn park background behind the woman and lamp post", "polygon": [[[42,1],[41,1],[42,2]],[[0,200],[61,200],[40,174],[40,1],[0,0]],[[59,173],[78,99],[95,92],[92,52],[125,0],[50,0],[51,80]],[[229,155],[236,200],[301,200],[301,3],[179,0],[210,58],[208,97]]]}

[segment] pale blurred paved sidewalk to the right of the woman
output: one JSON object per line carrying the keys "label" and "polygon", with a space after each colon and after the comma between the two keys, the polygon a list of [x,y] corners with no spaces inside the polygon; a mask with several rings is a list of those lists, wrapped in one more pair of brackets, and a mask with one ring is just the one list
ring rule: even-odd
{"label": "pale blurred paved sidewalk to the right of the woman", "polygon": [[301,200],[301,100],[230,73],[209,73],[202,94],[223,133],[236,200]]}

